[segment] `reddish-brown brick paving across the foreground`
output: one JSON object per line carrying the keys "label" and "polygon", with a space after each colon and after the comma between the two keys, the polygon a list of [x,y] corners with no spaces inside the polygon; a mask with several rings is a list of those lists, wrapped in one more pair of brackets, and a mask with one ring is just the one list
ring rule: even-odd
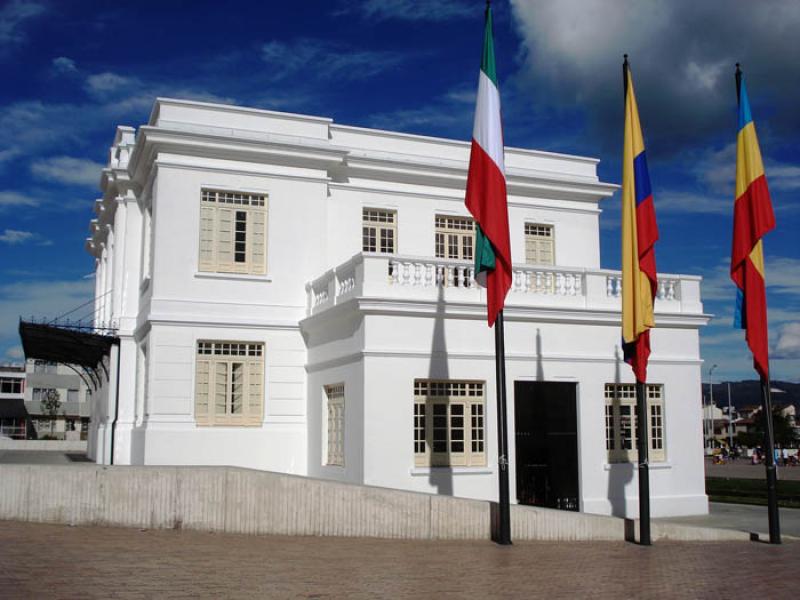
{"label": "reddish-brown brick paving across the foreground", "polygon": [[417,542],[0,521],[2,598],[798,598],[800,544]]}

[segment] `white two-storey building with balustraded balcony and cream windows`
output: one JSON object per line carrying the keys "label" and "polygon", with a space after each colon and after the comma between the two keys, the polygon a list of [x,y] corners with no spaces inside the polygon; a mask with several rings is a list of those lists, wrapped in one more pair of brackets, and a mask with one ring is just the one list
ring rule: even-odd
{"label": "white two-storey building with balustraded balcony and cream windows", "polygon": [[[119,127],[87,240],[98,324],[120,339],[90,455],[496,498],[468,154],[172,99]],[[599,204],[616,186],[590,158],[509,148],[506,167],[512,501],[635,515],[620,274],[600,267]],[[704,513],[700,278],[662,274],[656,314],[652,512]]]}

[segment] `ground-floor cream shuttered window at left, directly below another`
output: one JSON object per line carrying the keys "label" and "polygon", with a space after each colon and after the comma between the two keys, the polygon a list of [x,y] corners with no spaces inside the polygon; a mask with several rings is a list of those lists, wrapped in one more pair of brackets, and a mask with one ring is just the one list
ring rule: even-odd
{"label": "ground-floor cream shuttered window at left, directly below another", "polygon": [[199,340],[195,363],[197,425],[257,427],[263,414],[264,344]]}

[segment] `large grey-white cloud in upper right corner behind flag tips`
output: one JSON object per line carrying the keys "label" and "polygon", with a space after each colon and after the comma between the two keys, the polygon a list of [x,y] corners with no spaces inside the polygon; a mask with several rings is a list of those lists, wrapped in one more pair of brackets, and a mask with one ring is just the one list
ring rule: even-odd
{"label": "large grey-white cloud in upper right corner behind flag tips", "polygon": [[648,150],[682,153],[690,143],[726,130],[733,138],[737,61],[745,65],[751,92],[758,90],[757,96],[751,93],[756,110],[770,102],[772,130],[796,139],[800,63],[786,52],[796,46],[800,29],[796,2],[762,0],[758,15],[726,0],[511,5],[522,39],[521,89],[537,105],[581,111],[588,133],[609,150],[616,150],[619,139],[624,53],[630,55]]}

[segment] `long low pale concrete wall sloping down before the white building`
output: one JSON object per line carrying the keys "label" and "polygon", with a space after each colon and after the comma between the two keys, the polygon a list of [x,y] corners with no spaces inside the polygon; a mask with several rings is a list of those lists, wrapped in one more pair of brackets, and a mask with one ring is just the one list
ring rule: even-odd
{"label": "long low pale concrete wall sloping down before the white building", "polygon": [[[0,519],[7,520],[404,539],[491,535],[489,502],[234,467],[9,464],[0,465],[0,482]],[[626,521],[614,517],[512,506],[511,519],[516,540],[626,537]],[[654,524],[653,538],[665,537],[748,539]]]}

